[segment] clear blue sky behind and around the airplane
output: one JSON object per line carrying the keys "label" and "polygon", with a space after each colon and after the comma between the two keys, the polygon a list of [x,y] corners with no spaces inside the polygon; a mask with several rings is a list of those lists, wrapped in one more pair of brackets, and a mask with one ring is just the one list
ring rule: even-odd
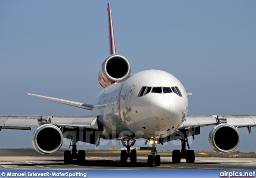
{"label": "clear blue sky behind and around the airplane", "polygon": [[[107,3],[0,1],[0,115],[91,114],[26,93],[94,103],[102,90],[100,65],[109,54]],[[256,114],[255,1],[141,0],[111,5],[116,51],[130,61],[132,74],[159,69],[176,76],[193,93],[189,115]],[[211,129],[202,128],[191,149],[212,150]],[[256,151],[256,129],[250,135],[245,128],[238,131],[238,150]],[[32,147],[32,133],[2,129],[0,148]],[[158,149],[180,149],[177,145]]]}

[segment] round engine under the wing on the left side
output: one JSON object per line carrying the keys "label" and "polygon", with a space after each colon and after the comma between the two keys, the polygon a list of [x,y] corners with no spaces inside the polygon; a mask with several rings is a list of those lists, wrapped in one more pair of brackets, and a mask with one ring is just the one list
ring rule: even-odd
{"label": "round engine under the wing on the left side", "polygon": [[58,151],[63,142],[60,129],[52,124],[41,125],[34,131],[32,145],[42,154],[51,154]]}

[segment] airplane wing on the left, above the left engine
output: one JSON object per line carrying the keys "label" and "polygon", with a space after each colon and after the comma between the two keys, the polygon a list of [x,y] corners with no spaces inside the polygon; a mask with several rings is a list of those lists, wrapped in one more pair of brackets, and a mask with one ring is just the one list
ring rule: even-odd
{"label": "airplane wing on the left, above the left engine", "polygon": [[24,116],[4,115],[0,116],[0,129],[31,130],[30,127],[39,127],[43,124],[53,124],[59,127],[73,129],[83,127],[92,130],[100,130],[103,118],[101,115],[88,116]]}

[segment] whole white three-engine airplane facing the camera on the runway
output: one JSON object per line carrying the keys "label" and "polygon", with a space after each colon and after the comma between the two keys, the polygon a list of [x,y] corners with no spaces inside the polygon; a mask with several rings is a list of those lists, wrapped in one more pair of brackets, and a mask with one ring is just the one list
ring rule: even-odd
{"label": "whole white three-engine airplane facing the camera on the runway", "polygon": [[60,149],[63,138],[72,141],[72,152],[64,152],[64,164],[78,160],[85,164],[86,153],[77,151],[77,141],[98,146],[100,139],[120,141],[126,150],[120,152],[120,162],[130,159],[137,162],[136,150],[131,147],[138,140],[152,145],[148,166],[160,166],[157,145],[173,140],[181,141],[181,149],[173,150],[172,162],[195,162],[195,154],[188,137],[200,134],[200,128],[213,125],[209,134],[212,149],[220,153],[234,151],[240,143],[238,127],[256,126],[256,115],[187,115],[188,96],[181,82],[162,70],[144,70],[130,75],[130,62],[116,53],[111,6],[108,3],[108,30],[110,55],[102,62],[98,74],[99,84],[104,88],[94,104],[86,104],[30,94],[78,108],[91,110],[86,116],[0,116],[1,129],[25,129],[36,127],[32,145],[42,154],[52,154]]}

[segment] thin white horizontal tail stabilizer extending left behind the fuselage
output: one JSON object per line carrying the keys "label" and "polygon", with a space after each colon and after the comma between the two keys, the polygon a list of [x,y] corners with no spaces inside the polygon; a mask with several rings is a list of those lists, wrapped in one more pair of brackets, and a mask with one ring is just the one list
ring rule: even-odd
{"label": "thin white horizontal tail stabilizer extending left behind the fuselage", "polygon": [[49,100],[49,101],[53,101],[53,102],[57,102],[57,103],[67,104],[67,105],[70,105],[70,106],[75,106],[75,107],[83,108],[83,109],[86,109],[86,110],[92,110],[93,107],[94,107],[92,104],[73,102],[73,101],[69,101],[69,100],[62,100],[62,99],[58,99],[58,98],[51,98],[51,97],[48,97],[48,96],[41,96],[41,95],[37,95],[37,94],[30,94],[30,93],[28,93],[28,96],[34,96],[36,98],[41,98],[41,99],[44,99],[44,100]]}

